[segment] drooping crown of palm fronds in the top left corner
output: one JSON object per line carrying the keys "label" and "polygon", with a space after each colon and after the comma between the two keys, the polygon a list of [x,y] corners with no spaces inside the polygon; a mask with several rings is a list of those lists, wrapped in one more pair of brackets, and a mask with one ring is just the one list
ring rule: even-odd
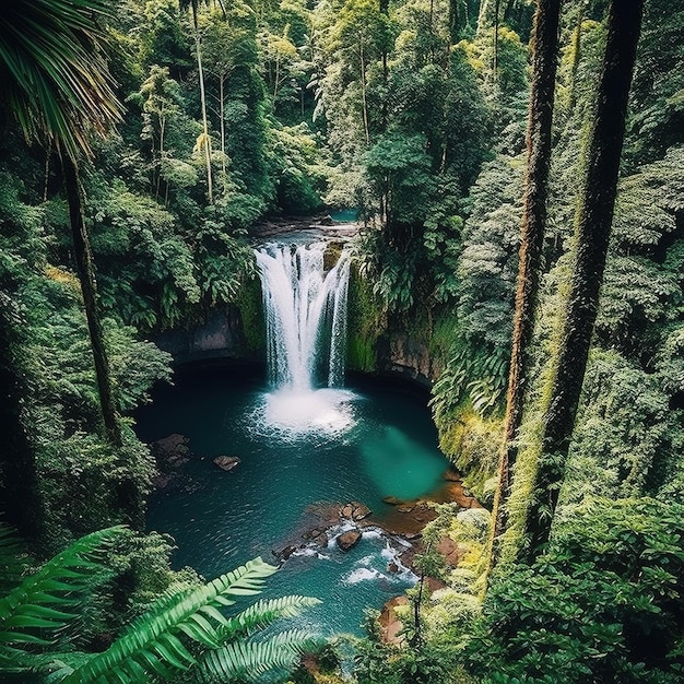
{"label": "drooping crown of palm fronds in the top left corner", "polygon": [[0,82],[27,139],[90,153],[91,131],[120,119],[103,46],[107,0],[15,0],[0,13]]}

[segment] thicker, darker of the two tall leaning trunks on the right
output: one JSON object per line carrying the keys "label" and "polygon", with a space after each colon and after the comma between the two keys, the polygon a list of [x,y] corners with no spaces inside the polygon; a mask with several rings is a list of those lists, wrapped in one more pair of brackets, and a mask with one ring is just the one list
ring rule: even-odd
{"label": "thicker, darker of the two tall leaning trunks on the right", "polygon": [[576,212],[570,292],[553,359],[541,456],[526,520],[528,559],[533,559],[549,540],[575,426],[608,255],[642,11],[644,0],[613,0],[609,10],[595,120],[586,151],[583,189]]}

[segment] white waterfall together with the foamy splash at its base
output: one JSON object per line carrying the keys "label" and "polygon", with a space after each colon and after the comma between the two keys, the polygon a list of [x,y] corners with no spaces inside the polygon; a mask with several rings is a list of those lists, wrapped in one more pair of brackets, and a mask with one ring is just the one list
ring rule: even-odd
{"label": "white waterfall together with the foamy splash at its base", "polygon": [[350,260],[326,272],[327,243],[257,250],[269,376],[262,423],[281,438],[339,434],[354,424],[344,379]]}

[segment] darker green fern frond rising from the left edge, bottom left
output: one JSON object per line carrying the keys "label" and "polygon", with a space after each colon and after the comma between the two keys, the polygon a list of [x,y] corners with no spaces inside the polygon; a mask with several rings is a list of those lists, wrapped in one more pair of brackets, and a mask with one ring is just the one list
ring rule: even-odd
{"label": "darker green fern frond rising from the left edge, bottom left", "polygon": [[75,617],[71,609],[102,570],[103,550],[126,528],[117,526],[76,540],[0,599],[0,657],[30,644],[47,646]]}

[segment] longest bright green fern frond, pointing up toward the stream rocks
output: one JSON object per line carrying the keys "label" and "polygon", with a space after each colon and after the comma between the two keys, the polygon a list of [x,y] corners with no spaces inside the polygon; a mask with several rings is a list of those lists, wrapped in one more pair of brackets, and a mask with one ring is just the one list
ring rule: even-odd
{"label": "longest bright green fern frond, pointing up toward the stream rocks", "polygon": [[141,681],[144,673],[169,679],[175,672],[187,670],[196,659],[179,636],[219,648],[220,629],[228,622],[219,609],[232,605],[237,597],[259,593],[266,578],[276,569],[255,558],[202,587],[162,597],[106,651],[94,656],[62,681],[123,684]]}

